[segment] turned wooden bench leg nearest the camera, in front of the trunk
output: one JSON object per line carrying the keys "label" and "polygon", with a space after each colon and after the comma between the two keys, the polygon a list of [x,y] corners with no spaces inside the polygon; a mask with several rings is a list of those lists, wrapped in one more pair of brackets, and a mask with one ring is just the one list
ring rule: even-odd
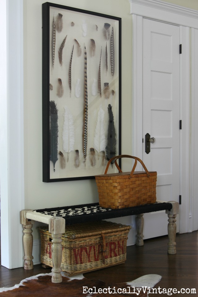
{"label": "turned wooden bench leg nearest the camera, in front of the trunk", "polygon": [[62,259],[62,234],[65,233],[65,219],[53,217],[49,220],[49,232],[52,234],[52,282],[62,282],[61,259]]}

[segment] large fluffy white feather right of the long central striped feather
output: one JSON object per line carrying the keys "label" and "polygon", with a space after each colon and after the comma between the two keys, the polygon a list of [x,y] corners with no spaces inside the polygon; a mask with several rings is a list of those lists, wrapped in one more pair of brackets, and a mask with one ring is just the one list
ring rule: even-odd
{"label": "large fluffy white feather right of the long central striped feather", "polygon": [[106,149],[106,137],[104,127],[105,112],[102,108],[98,111],[96,129],[94,132],[93,147],[99,153]]}

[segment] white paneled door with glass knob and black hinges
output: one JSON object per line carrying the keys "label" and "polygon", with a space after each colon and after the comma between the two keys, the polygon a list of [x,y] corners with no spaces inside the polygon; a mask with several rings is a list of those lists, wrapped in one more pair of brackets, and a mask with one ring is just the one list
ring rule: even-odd
{"label": "white paneled door with glass knob and black hinges", "polygon": [[[143,161],[157,171],[157,200],[178,202],[179,72],[179,26],[143,19]],[[147,133],[155,142],[146,153]],[[163,212],[144,218],[144,238],[167,234]]]}

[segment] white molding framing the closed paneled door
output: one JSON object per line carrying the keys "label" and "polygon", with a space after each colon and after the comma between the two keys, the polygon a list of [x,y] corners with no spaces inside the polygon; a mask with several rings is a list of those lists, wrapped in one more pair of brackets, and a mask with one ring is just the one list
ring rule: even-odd
{"label": "white molding framing the closed paneled door", "polygon": [[192,232],[198,229],[198,203],[197,199],[193,199],[194,193],[197,194],[198,192],[196,174],[198,158],[195,153],[195,147],[198,143],[195,138],[190,137],[192,135],[190,132],[195,133],[196,128],[198,128],[196,116],[192,112],[197,105],[195,98],[198,95],[198,90],[195,82],[198,79],[198,73],[195,67],[194,69],[190,68],[190,57],[191,65],[194,65],[197,59],[198,11],[156,0],[129,0],[129,2],[132,14],[132,150],[133,154],[140,158],[142,158],[143,18],[163,21],[180,27],[180,43],[182,43],[182,54],[180,55],[180,119],[182,119],[182,130],[180,131],[181,167],[180,193],[178,195],[182,195],[183,199],[180,205],[179,232]]}

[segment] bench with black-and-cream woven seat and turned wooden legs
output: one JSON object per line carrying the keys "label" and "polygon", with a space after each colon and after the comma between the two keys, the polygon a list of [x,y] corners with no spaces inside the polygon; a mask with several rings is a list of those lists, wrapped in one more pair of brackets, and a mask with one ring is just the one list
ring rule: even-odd
{"label": "bench with black-and-cream woven seat and turned wooden legs", "polygon": [[136,245],[144,245],[143,241],[143,226],[144,219],[143,214],[166,210],[168,214],[168,253],[176,253],[176,215],[179,213],[179,203],[175,201],[162,202],[157,201],[154,204],[146,204],[135,207],[129,207],[124,209],[106,209],[101,208],[98,203],[92,204],[81,204],[67,207],[58,207],[52,209],[38,209],[30,210],[24,209],[20,212],[20,223],[24,227],[24,269],[33,269],[32,262],[32,225],[34,221],[46,223],[49,225],[49,232],[52,234],[52,282],[62,282],[61,275],[61,258],[62,258],[62,246],[61,237],[65,232],[67,225],[82,223],[82,222],[93,222],[104,219],[110,219],[115,217],[125,217],[130,215],[136,215]]}

